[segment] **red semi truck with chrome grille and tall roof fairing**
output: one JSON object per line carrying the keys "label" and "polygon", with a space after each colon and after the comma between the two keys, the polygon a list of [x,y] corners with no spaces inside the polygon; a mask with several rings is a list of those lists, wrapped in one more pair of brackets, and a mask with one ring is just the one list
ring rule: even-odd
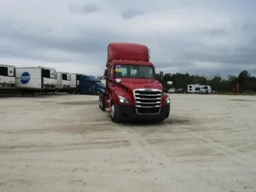
{"label": "red semi truck with chrome grille and tall roof fairing", "polygon": [[163,92],[143,44],[108,44],[105,69],[106,92],[99,96],[99,108],[110,113],[113,122],[125,119],[163,121],[170,113],[170,98]]}

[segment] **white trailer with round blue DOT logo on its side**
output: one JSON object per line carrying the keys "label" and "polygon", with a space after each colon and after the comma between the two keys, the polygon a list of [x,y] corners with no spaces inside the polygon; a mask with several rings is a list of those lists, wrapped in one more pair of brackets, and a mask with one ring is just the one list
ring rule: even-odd
{"label": "white trailer with round blue DOT logo on its side", "polygon": [[24,93],[54,92],[55,69],[46,67],[16,67],[16,88]]}

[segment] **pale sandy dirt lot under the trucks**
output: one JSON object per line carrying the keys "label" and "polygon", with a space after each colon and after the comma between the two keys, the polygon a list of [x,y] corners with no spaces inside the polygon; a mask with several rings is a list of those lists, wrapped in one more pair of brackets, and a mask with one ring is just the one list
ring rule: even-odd
{"label": "pale sandy dirt lot under the trucks", "polygon": [[96,96],[0,97],[0,191],[256,191],[256,97],[171,97],[160,125],[113,124]]}

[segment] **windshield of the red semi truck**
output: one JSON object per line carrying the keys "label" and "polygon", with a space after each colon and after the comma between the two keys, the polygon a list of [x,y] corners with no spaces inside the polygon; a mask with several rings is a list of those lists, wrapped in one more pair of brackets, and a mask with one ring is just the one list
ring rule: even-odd
{"label": "windshield of the red semi truck", "polygon": [[114,74],[116,78],[137,78],[137,79],[156,79],[154,67],[117,65]]}

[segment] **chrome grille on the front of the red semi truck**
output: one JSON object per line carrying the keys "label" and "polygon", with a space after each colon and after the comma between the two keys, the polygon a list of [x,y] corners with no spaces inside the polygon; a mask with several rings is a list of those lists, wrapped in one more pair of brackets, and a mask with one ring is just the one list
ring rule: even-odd
{"label": "chrome grille on the front of the red semi truck", "polygon": [[137,89],[133,91],[136,108],[160,108],[162,91],[156,89]]}

